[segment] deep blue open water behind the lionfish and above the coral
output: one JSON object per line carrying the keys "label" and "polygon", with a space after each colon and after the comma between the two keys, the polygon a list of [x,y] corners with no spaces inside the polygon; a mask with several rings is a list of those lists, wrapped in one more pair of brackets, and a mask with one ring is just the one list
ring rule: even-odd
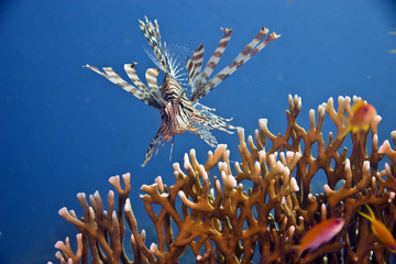
{"label": "deep blue open water behind the lionfish and above the coral", "polygon": [[[146,167],[141,163],[161,120],[153,108],[82,68],[138,62],[142,79],[154,67],[142,46],[139,19],[157,19],[163,38],[208,59],[222,36],[233,34],[221,58],[227,66],[261,26],[282,37],[206,96],[221,117],[252,134],[258,118],[284,132],[287,95],[302,98],[299,123],[329,97],[358,95],[383,118],[380,143],[396,130],[396,3],[391,0],[272,1],[9,1],[0,6],[0,263],[55,261],[53,245],[76,230],[57,215],[76,209],[78,191],[103,198],[108,178],[132,173],[131,200],[139,228],[155,238],[139,198],[158,175],[174,183],[172,163],[210,147],[197,135],[175,138]],[[326,119],[333,129],[329,118]],[[238,135],[215,131],[240,161]],[[320,185],[320,184],[319,184]],[[322,185],[322,184],[321,184]]]}

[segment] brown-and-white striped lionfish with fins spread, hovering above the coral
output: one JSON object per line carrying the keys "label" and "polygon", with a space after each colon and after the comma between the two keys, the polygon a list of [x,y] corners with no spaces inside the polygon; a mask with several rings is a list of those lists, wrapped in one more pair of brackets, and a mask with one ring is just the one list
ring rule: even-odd
{"label": "brown-and-white striped lionfish with fins spread, hovering above the coral", "polygon": [[[213,113],[215,109],[208,108],[199,103],[205,95],[217,87],[222,80],[229,77],[233,72],[246,63],[257,52],[265,47],[268,43],[276,40],[280,35],[275,32],[270,34],[266,40],[268,30],[262,28],[258,34],[249,43],[242,52],[235,57],[232,63],[220,70],[210,80],[209,77],[215,70],[216,65],[220,61],[227,44],[230,41],[232,30],[221,29],[224,31],[223,37],[220,40],[218,47],[210,57],[204,70],[202,57],[204,57],[204,45],[200,44],[194,52],[193,58],[187,56],[187,72],[188,72],[188,84],[191,87],[191,95],[187,98],[186,88],[183,87],[182,68],[178,67],[177,62],[172,57],[166,43],[162,43],[160,26],[156,20],[154,24],[145,18],[145,22],[140,22],[140,29],[142,30],[145,38],[153,50],[153,54],[148,54],[158,68],[148,68],[145,73],[147,86],[138,77],[135,65],[136,63],[125,64],[124,70],[128,77],[134,84],[131,85],[123,80],[111,67],[103,67],[103,72],[100,72],[97,67],[85,65],[97,74],[100,74],[111,82],[120,86],[125,91],[131,92],[138,99],[147,103],[148,106],[156,108],[161,112],[162,124],[148,145],[144,162],[142,166],[150,161],[153,155],[153,151],[156,146],[157,154],[160,145],[164,145],[166,141],[172,138],[170,145],[170,157],[174,143],[175,134],[182,134],[186,131],[198,134],[206,143],[210,146],[217,145],[216,138],[210,133],[210,130],[218,129],[227,133],[233,133],[230,130],[237,129],[235,127],[228,123],[231,119],[224,119]],[[264,40],[264,41],[263,41]],[[157,76],[160,70],[164,72],[164,79],[158,87]]]}

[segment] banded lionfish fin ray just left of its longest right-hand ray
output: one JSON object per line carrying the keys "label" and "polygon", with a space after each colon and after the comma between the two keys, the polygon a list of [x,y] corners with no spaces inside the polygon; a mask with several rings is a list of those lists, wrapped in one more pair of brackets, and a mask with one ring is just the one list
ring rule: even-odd
{"label": "banded lionfish fin ray just left of its longest right-hand ray", "polygon": [[208,78],[213,73],[217,64],[219,63],[222,54],[226,51],[227,44],[229,43],[229,41],[231,38],[232,30],[223,29],[223,28],[221,28],[221,30],[224,31],[224,35],[221,37],[218,47],[216,48],[216,51],[212,54],[212,56],[210,57],[209,62],[205,66],[202,74],[199,75],[199,79],[197,80],[196,85],[193,87],[193,91],[197,87],[201,87],[202,85],[205,85],[207,82]]}

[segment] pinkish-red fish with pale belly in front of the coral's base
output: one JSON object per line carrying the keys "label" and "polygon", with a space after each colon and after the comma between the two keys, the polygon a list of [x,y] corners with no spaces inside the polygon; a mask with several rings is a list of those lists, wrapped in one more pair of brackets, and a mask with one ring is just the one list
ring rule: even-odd
{"label": "pinkish-red fish with pale belly in front of the coral's base", "polygon": [[297,251],[297,258],[309,250],[310,252],[316,251],[321,244],[328,242],[338,234],[344,226],[342,218],[332,218],[311,228],[300,240],[300,244],[294,249]]}

